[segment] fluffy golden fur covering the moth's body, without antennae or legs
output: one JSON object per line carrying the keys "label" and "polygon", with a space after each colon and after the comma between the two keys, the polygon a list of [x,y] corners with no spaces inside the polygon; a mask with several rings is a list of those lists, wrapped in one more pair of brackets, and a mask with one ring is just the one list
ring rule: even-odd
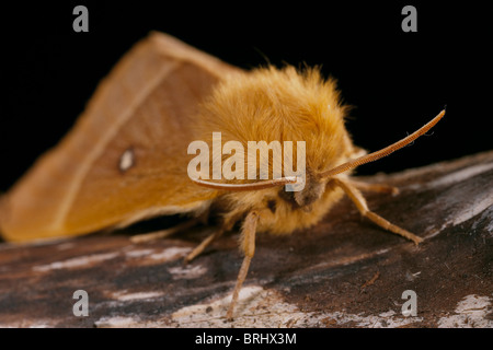
{"label": "fluffy golden fur covering the moth's body, without antennae or legs", "polygon": [[[196,132],[198,139],[209,142],[210,150],[211,133],[218,131],[222,143],[240,141],[244,150],[248,141],[306,141],[307,173],[311,176],[300,194],[303,196],[318,182],[318,173],[358,152],[344,127],[346,110],[340,103],[335,82],[323,80],[318,69],[267,67],[230,75],[221,82],[199,109]],[[325,188],[325,184],[321,180],[321,192],[314,195],[310,206],[283,199],[279,192],[284,187],[227,192],[217,201],[228,203],[226,218],[262,210],[259,232],[287,234],[316,224],[341,199],[342,190]]]}

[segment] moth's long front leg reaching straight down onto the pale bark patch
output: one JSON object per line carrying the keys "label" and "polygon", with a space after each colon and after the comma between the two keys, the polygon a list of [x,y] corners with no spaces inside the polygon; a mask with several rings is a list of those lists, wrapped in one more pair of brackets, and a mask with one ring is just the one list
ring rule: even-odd
{"label": "moth's long front leg reaching straight down onto the pale bark patch", "polygon": [[257,222],[259,213],[256,211],[251,211],[243,222],[243,228],[241,230],[241,248],[244,253],[244,258],[243,262],[241,264],[240,272],[238,273],[237,284],[234,285],[231,303],[229,304],[229,308],[226,314],[226,318],[229,320],[232,319],[234,305],[238,302],[238,295],[246,278],[246,273],[249,272],[250,261],[255,254],[255,233]]}

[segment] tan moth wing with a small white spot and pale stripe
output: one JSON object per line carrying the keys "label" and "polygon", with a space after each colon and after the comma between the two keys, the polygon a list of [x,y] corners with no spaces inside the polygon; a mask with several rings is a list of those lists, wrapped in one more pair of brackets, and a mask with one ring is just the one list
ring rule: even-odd
{"label": "tan moth wing with a small white spot and pale stripe", "polygon": [[74,128],[3,198],[3,236],[77,235],[206,207],[216,192],[186,173],[191,125],[197,104],[234,71],[161,33],[138,43]]}

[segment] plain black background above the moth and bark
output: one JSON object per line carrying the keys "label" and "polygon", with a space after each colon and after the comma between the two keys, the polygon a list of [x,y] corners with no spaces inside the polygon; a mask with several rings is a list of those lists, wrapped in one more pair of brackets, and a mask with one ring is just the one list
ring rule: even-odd
{"label": "plain black background above the moth and bark", "polygon": [[[483,2],[485,3],[485,2]],[[72,10],[89,10],[74,33]],[[401,10],[417,9],[417,33]],[[130,46],[161,31],[232,65],[322,65],[355,106],[347,128],[370,151],[447,105],[412,147],[358,170],[394,172],[492,149],[492,26],[481,2],[39,1],[0,8],[0,190],[70,129],[98,82]]]}

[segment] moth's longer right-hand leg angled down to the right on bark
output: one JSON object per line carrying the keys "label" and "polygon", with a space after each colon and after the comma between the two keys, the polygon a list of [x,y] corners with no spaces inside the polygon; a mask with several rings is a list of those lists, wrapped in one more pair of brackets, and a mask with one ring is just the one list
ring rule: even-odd
{"label": "moth's longer right-hand leg angled down to the right on bark", "polygon": [[380,228],[387,230],[387,231],[391,231],[393,233],[397,233],[410,241],[413,241],[414,244],[419,244],[423,241],[422,237],[416,236],[415,234],[401,229],[392,223],[390,223],[389,221],[387,221],[386,219],[383,219],[382,217],[376,214],[375,212],[370,211],[368,209],[368,205],[366,203],[365,198],[363,197],[362,192],[354,186],[352,185],[349,182],[341,179],[341,178],[333,178],[332,180],[335,182],[335,184],[337,186],[340,186],[344,192],[351,198],[351,200],[356,205],[356,207],[358,208],[359,212],[362,213],[362,215],[364,215],[365,218],[368,218],[369,220],[371,220],[372,222],[375,222],[377,225],[379,225]]}

